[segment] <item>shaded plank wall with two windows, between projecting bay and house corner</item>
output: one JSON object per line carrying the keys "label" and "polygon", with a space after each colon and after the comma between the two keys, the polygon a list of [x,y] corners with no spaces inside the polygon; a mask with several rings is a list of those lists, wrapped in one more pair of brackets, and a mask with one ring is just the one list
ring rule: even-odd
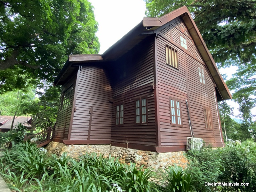
{"label": "shaded plank wall with two windows, between projecting bay and house corner", "polygon": [[[154,104],[154,38],[144,40],[139,48],[131,50],[117,60],[117,64],[126,62],[126,76],[113,84],[114,105],[112,118],[111,142],[127,144],[130,148],[147,150],[143,146],[156,146],[156,124]],[[143,51],[142,51],[143,50]],[[146,96],[148,100],[148,123],[135,123],[135,99]],[[116,126],[116,105],[124,104],[124,125]],[[126,145],[125,145],[126,147]],[[148,150],[153,150],[148,148]]]}

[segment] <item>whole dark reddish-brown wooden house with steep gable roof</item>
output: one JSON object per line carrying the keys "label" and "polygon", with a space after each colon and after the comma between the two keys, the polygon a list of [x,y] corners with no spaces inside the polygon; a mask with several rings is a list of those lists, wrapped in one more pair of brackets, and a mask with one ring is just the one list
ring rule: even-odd
{"label": "whole dark reddish-brown wooden house with steep gable roof", "polygon": [[161,153],[193,136],[224,146],[217,101],[231,94],[187,7],[143,18],[102,55],[70,55],[54,84],[53,141]]}

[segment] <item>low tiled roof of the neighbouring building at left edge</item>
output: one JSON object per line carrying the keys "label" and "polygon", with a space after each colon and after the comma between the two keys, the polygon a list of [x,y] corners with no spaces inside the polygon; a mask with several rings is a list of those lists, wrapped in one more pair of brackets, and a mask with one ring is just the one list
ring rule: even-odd
{"label": "low tiled roof of the neighbouring building at left edge", "polygon": [[[13,116],[0,116],[0,129],[10,129],[12,125]],[[15,117],[13,128],[19,123],[23,124],[27,128],[31,128],[31,117],[18,116]]]}

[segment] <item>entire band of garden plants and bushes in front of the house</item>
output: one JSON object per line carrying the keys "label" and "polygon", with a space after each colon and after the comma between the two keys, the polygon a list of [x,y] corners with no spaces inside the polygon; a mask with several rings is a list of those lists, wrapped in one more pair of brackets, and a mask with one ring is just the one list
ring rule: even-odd
{"label": "entire band of garden plants and bushes in front of the house", "polygon": [[[191,150],[188,167],[174,165],[157,172],[118,159],[85,154],[57,157],[30,142],[6,149],[0,173],[13,191],[33,192],[233,192],[255,191],[256,143],[229,141],[225,148]],[[249,186],[204,186],[204,183],[249,183]]]}

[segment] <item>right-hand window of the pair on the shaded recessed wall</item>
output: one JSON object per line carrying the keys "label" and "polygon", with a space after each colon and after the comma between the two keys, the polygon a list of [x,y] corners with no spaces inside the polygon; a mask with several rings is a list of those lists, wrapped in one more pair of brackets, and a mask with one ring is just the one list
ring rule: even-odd
{"label": "right-hand window of the pair on the shaded recessed wall", "polygon": [[135,122],[136,124],[146,124],[148,122],[147,98],[135,99]]}

